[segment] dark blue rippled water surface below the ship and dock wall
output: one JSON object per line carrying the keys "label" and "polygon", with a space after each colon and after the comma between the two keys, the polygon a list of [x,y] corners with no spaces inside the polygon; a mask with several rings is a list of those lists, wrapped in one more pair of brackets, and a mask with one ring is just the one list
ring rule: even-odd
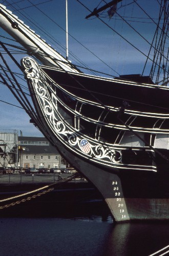
{"label": "dark blue rippled water surface below the ship and dock wall", "polygon": [[[144,256],[169,244],[169,223],[115,225],[110,216],[106,221],[100,216],[0,218],[0,234],[0,255],[3,256]],[[164,250],[155,255],[164,255],[162,253]]]}

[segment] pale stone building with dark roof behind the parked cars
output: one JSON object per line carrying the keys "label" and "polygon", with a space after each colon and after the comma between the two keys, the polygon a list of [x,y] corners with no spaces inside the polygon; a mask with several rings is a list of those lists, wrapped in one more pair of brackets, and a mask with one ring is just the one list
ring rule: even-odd
{"label": "pale stone building with dark roof behind the parked cars", "polygon": [[61,156],[45,137],[18,136],[18,167],[60,167]]}

